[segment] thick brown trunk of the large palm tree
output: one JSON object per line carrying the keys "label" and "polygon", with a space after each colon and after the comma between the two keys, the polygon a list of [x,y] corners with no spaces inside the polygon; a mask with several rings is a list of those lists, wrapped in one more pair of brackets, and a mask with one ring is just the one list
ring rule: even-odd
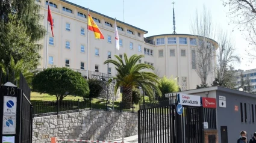
{"label": "thick brown trunk of the large palm tree", "polygon": [[133,88],[123,87],[122,108],[131,109],[132,100],[133,100]]}

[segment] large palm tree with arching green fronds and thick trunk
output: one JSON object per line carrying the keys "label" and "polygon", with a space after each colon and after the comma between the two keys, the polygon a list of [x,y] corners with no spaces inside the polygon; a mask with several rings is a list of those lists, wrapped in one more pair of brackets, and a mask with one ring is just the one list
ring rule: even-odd
{"label": "large palm tree with arching green fronds and thick trunk", "polygon": [[[127,58],[126,53],[124,53],[124,62],[119,56],[114,55],[117,61],[113,59],[107,59],[104,64],[112,63],[116,66],[117,75],[113,79],[116,80],[116,85],[114,87],[114,94],[116,95],[117,89],[123,87],[122,103],[123,108],[130,109],[132,102],[133,89],[136,87],[142,87],[143,90],[148,94],[149,97],[154,96],[153,88],[161,95],[161,91],[155,84],[158,83],[158,76],[155,73],[142,71],[143,69],[152,69],[154,67],[148,64],[137,64],[143,55],[133,55]],[[110,79],[111,82],[112,79]]]}

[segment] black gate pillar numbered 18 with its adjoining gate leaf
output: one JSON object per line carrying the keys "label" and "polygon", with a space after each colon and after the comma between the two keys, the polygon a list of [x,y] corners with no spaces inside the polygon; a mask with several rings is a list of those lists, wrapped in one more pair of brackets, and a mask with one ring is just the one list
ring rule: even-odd
{"label": "black gate pillar numbered 18 with its adjoining gate leaf", "polygon": [[[22,81],[23,76],[20,78],[20,84],[23,84],[23,88],[28,88],[27,83]],[[0,107],[1,142],[31,143],[33,106],[23,90],[11,82],[2,85],[0,87]]]}

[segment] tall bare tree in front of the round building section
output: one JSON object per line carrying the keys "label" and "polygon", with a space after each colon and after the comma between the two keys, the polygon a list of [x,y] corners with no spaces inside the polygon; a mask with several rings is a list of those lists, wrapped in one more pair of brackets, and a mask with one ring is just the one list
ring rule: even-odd
{"label": "tall bare tree in front of the round building section", "polygon": [[192,64],[195,65],[196,73],[203,86],[207,87],[208,75],[213,72],[213,59],[214,59],[214,46],[210,44],[209,38],[214,38],[213,26],[211,22],[211,13],[205,8],[202,11],[202,15],[198,16],[196,10],[196,16],[191,22],[192,34],[196,36],[196,48],[192,50],[195,52],[195,61],[192,60]]}

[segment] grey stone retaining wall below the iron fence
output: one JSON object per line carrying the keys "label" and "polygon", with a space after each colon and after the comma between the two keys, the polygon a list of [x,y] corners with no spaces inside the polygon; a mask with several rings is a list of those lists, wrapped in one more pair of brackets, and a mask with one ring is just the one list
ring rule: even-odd
{"label": "grey stone retaining wall below the iron fence", "polygon": [[61,139],[111,140],[137,135],[137,114],[84,111],[33,119],[33,142]]}

